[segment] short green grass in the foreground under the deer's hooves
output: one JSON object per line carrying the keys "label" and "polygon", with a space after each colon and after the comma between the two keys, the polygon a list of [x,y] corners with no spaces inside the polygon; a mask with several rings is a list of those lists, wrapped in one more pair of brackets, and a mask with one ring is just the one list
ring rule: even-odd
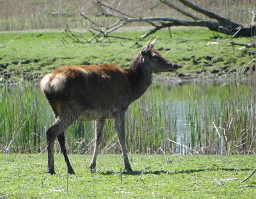
{"label": "short green grass in the foreground under the deer's hooves", "polygon": [[45,154],[0,155],[0,198],[254,198],[254,155],[129,155],[132,173],[120,172],[121,155],[69,155],[68,175],[61,154],[56,175],[45,173]]}

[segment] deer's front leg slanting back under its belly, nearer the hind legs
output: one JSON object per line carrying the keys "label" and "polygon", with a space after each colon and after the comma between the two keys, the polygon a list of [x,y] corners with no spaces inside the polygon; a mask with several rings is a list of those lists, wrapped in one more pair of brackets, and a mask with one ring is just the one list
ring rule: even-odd
{"label": "deer's front leg slanting back under its belly, nearer the hind legs", "polygon": [[105,123],[105,120],[103,119],[96,120],[94,152],[93,152],[92,161],[89,166],[91,171],[95,170],[95,167],[96,167],[97,150],[102,141],[102,130],[104,127],[104,123]]}

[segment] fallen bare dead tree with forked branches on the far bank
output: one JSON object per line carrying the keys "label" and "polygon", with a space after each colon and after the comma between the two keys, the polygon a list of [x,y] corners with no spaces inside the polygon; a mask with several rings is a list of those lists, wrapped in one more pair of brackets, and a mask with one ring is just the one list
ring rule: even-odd
{"label": "fallen bare dead tree with forked branches on the far bank", "polygon": [[[117,29],[127,26],[127,24],[145,22],[147,24],[150,24],[150,26],[152,26],[152,29],[149,29],[146,33],[141,35],[139,39],[145,38],[148,35],[155,33],[159,29],[170,28],[172,26],[199,26],[209,28],[212,31],[225,33],[227,35],[234,35],[236,33],[236,36],[255,36],[256,26],[253,23],[251,26],[243,26],[242,24],[238,24],[237,22],[233,22],[232,20],[225,19],[220,15],[217,15],[216,13],[204,10],[203,8],[200,8],[199,6],[196,6],[195,4],[190,3],[187,0],[176,1],[179,1],[180,3],[184,4],[184,6],[187,8],[195,10],[195,12],[197,13],[205,15],[207,18],[209,18],[209,20],[200,19],[200,17],[193,15],[193,13],[190,13],[187,10],[180,8],[179,6],[175,5],[174,3],[168,0],[159,1],[159,3],[153,6],[152,9],[154,9],[159,4],[165,4],[166,6],[170,6],[170,8],[177,10],[183,15],[186,15],[187,17],[191,18],[191,20],[180,20],[169,17],[133,17],[127,13],[121,12],[120,10],[113,8],[112,6],[109,6],[108,4],[102,3],[100,0],[97,0],[93,3],[95,7],[99,10],[97,17],[116,17],[116,22],[111,24],[110,26],[102,26],[94,22],[89,17],[86,17],[86,15],[84,15],[83,13],[81,13],[81,16],[84,17],[84,19],[88,20],[92,26],[91,28],[86,29],[87,31],[92,33],[92,37],[85,39],[81,35],[72,33],[72,31],[70,31],[69,28],[66,29],[65,34],[68,37],[72,38],[74,42],[84,43],[99,42],[107,37],[132,40],[132,38],[113,35],[113,32],[115,32]],[[255,13],[253,14],[255,15]]]}

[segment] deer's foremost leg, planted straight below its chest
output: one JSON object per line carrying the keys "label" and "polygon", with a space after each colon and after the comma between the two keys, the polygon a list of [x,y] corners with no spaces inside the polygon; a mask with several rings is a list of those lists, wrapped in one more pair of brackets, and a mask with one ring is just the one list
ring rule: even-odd
{"label": "deer's foremost leg, planted straight below its chest", "polygon": [[125,122],[125,117],[124,113],[119,114],[115,118],[115,126],[116,126],[116,131],[118,134],[119,138],[119,143],[122,148],[122,154],[123,154],[123,159],[124,159],[124,170],[126,171],[132,171],[132,168],[129,163],[128,155],[127,155],[127,149],[125,145],[125,131],[124,131],[124,122]]}

